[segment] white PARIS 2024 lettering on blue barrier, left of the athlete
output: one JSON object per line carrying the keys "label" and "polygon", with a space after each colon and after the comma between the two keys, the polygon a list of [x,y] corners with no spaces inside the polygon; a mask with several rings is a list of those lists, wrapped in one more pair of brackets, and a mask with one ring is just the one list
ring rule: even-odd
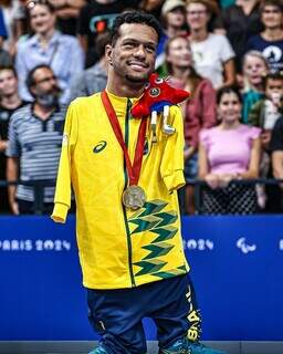
{"label": "white PARIS 2024 lettering on blue barrier, left of the athlete", "polygon": [[62,252],[70,250],[71,242],[66,240],[0,240],[0,251],[3,252]]}

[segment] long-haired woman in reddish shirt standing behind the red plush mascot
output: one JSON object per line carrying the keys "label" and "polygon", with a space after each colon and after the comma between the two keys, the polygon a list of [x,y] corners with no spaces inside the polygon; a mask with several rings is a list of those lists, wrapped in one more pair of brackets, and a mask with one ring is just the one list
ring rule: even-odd
{"label": "long-haired woman in reddish shirt standing behind the red plush mascot", "polygon": [[[185,118],[185,177],[196,179],[198,175],[198,144],[201,128],[209,128],[217,123],[216,92],[209,80],[196,73],[192,65],[190,44],[187,38],[177,35],[166,45],[166,63],[170,82],[178,88],[191,93],[182,105]],[[186,211],[195,212],[193,187],[186,186]]]}

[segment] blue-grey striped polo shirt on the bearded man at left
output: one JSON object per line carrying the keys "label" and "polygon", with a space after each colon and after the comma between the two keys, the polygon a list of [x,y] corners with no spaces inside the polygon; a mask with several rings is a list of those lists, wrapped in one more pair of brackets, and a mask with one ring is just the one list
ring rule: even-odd
{"label": "blue-grey striped polo shirt on the bearded man at left", "polygon": [[[23,181],[55,181],[61,153],[65,107],[60,107],[48,119],[33,113],[31,104],[12,116],[8,133],[8,157],[20,158],[20,179]],[[44,202],[52,202],[54,187],[44,187]],[[17,198],[34,201],[33,187],[19,185]]]}

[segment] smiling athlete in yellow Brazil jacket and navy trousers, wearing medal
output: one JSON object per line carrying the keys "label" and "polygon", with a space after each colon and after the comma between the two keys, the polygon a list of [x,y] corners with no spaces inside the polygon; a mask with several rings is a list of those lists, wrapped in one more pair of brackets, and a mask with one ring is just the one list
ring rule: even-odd
{"label": "smiling athlete in yellow Brazil jacket and navy trousers, wearing medal", "polygon": [[157,326],[160,354],[220,353],[201,346],[187,275],[177,189],[184,180],[184,127],[170,107],[166,135],[130,107],[154,71],[160,28],[125,12],[106,46],[107,87],[69,107],[52,218],[76,199],[76,232],[90,320],[102,335],[92,354],[144,354],[143,317]]}

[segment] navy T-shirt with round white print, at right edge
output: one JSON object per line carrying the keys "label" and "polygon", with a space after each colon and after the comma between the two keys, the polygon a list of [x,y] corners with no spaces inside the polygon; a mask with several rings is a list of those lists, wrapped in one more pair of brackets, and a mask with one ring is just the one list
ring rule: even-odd
{"label": "navy T-shirt with round white print, at right edge", "polygon": [[253,35],[248,41],[247,50],[260,51],[272,71],[283,70],[283,40],[265,41],[261,34]]}

